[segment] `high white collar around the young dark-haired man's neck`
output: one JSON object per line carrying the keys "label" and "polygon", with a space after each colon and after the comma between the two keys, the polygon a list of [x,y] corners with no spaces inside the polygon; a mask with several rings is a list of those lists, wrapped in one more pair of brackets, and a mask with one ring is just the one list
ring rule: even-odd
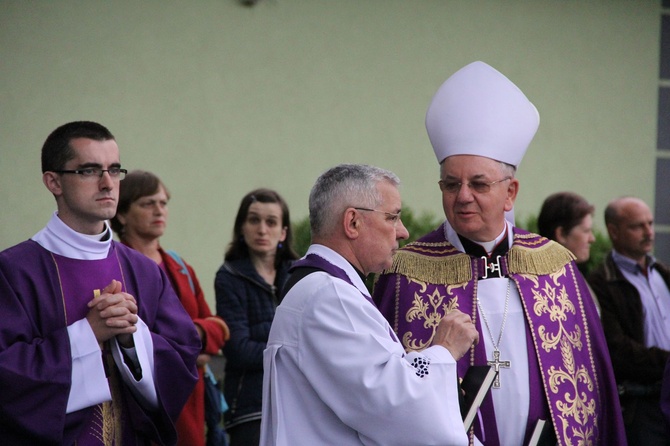
{"label": "high white collar around the young dark-haired man's neck", "polygon": [[54,254],[79,260],[106,259],[112,246],[111,229],[105,221],[105,230],[98,235],[81,234],[54,212],[47,225],[32,237],[41,247]]}

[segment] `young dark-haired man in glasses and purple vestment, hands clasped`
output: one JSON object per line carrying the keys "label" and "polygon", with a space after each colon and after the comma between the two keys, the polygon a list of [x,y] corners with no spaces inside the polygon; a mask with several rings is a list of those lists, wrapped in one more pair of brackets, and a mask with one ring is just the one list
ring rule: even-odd
{"label": "young dark-haired man in glasses and purple vestment, hands clasped", "polygon": [[42,172],[57,211],[0,253],[0,444],[172,444],[200,341],[166,275],[112,241],[114,136],[65,124]]}

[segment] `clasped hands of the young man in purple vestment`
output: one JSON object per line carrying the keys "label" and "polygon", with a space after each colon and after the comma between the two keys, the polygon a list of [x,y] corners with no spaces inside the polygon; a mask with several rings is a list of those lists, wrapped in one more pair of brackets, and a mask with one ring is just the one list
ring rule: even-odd
{"label": "clasped hands of the young man in purple vestment", "polygon": [[117,280],[112,280],[88,303],[88,307],[86,320],[98,342],[119,336],[119,342],[124,345],[123,342],[127,344],[137,331],[137,302],[133,296],[121,291],[121,282]]}

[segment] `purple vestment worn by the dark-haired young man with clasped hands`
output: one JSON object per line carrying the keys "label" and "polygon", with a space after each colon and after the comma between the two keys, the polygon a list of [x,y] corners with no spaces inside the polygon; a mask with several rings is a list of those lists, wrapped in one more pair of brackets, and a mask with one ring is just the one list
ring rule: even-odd
{"label": "purple vestment worn by the dark-haired young man with clasped hands", "polygon": [[[104,288],[112,278],[135,297],[139,316],[152,332],[159,399],[159,409],[148,412],[123,386],[123,444],[174,444],[174,420],[197,379],[200,341],[167,276],[150,259],[117,243],[109,259],[100,263],[58,261],[59,267],[80,268],[75,272],[83,279],[63,284],[64,292],[78,297],[68,303],[67,322],[51,253],[31,240],[0,253],[0,444],[63,445],[77,440],[93,409],[65,414],[72,373],[66,326],[85,314],[82,305],[92,290]],[[112,264],[116,267],[110,273]]]}

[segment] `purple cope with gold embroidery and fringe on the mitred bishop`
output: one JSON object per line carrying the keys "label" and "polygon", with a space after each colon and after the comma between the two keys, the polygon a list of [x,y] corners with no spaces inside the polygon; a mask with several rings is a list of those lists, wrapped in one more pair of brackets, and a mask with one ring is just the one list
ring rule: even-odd
{"label": "purple cope with gold embroidery and fringe on the mitred bishop", "polygon": [[[514,228],[512,248],[502,261],[526,319],[530,407],[524,443],[537,420],[551,419],[559,445],[626,444],[602,327],[572,256],[556,243]],[[470,314],[481,334],[475,296],[482,266],[449,243],[440,227],[398,251],[375,284],[373,298],[406,350],[430,345],[450,309]],[[490,356],[480,342],[459,360],[459,376]],[[485,432],[475,423],[474,433],[486,446],[498,446],[490,394],[481,411]]]}

